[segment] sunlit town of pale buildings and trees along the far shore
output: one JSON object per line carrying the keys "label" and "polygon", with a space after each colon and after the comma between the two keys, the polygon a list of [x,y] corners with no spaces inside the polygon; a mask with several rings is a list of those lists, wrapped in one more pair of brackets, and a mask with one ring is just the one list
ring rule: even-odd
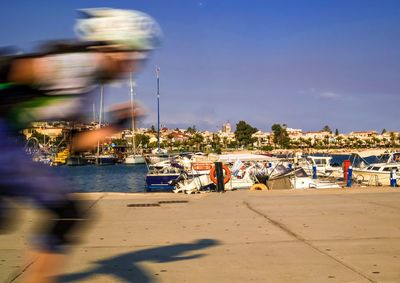
{"label": "sunlit town of pale buildings and trees along the far shore", "polygon": [[[243,136],[238,127],[234,129],[230,122],[222,125],[216,132],[199,131],[196,126],[187,129],[169,129],[161,126],[160,130],[154,126],[150,128],[137,128],[134,131],[136,146],[142,152],[151,152],[158,146],[169,152],[202,151],[221,152],[234,150],[285,150],[285,149],[357,149],[357,148],[393,148],[400,144],[400,133],[382,130],[378,133],[369,131],[352,131],[350,133],[339,133],[338,130],[331,131],[325,126],[320,131],[303,131],[293,129],[285,124],[278,128],[286,136],[286,141],[279,140],[276,131],[263,132],[244,121],[250,129]],[[236,126],[238,126],[237,124]],[[74,124],[67,122],[35,122],[24,130],[26,139],[35,139],[38,143],[50,146],[68,146],[68,134],[72,128],[74,131],[97,128],[98,124]],[[132,145],[132,131],[123,130],[106,139],[104,145],[129,147]],[[280,133],[280,134],[282,134]],[[94,145],[95,147],[95,145]]]}

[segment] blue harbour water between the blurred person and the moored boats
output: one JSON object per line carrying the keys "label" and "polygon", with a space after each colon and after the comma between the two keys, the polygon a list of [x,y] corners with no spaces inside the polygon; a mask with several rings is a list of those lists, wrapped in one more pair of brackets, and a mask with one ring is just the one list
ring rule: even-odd
{"label": "blue harbour water between the blurred person and the moored boats", "polygon": [[75,192],[144,192],[146,165],[51,167]]}

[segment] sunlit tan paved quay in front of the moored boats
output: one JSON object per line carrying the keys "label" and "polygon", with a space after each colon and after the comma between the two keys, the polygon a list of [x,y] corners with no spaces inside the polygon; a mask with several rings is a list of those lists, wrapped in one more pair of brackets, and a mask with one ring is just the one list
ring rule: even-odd
{"label": "sunlit tan paved quay in front of the moored boats", "polygon": [[[400,282],[400,189],[88,193],[96,220],[60,282]],[[36,214],[0,236],[18,282]]]}

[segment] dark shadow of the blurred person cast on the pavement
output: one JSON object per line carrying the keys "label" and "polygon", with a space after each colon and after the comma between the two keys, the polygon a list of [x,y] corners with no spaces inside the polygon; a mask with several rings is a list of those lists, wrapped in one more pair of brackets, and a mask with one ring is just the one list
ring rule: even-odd
{"label": "dark shadow of the blurred person cast on the pavement", "polygon": [[95,277],[99,275],[111,276],[120,282],[152,282],[154,275],[140,267],[140,262],[163,263],[196,259],[205,256],[205,254],[197,253],[185,256],[185,253],[206,249],[218,244],[219,242],[216,240],[201,239],[189,244],[175,244],[132,251],[95,261],[91,269],[77,273],[63,274],[58,278],[57,282],[85,282],[85,280],[94,280]]}

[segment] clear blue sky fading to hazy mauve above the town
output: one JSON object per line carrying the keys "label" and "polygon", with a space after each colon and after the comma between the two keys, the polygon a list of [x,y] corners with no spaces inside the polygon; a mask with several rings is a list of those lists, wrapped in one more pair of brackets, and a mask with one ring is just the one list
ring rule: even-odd
{"label": "clear blue sky fading to hazy mauve above the town", "polygon": [[[400,1],[2,1],[0,46],[72,38],[76,10],[88,7],[141,10],[163,30],[136,76],[144,126],[157,123],[158,65],[170,128],[400,130]],[[126,84],[108,87],[106,103],[128,94]]]}

